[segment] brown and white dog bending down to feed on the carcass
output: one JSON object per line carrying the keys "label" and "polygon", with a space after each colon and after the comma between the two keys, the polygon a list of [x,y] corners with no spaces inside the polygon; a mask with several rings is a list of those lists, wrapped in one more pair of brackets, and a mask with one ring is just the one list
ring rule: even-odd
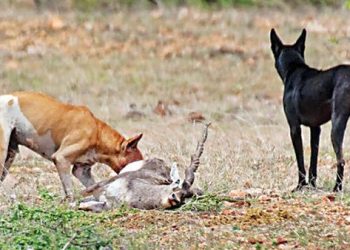
{"label": "brown and white dog bending down to feed on the carcass", "polygon": [[23,145],[57,167],[67,198],[72,198],[73,175],[89,187],[94,184],[91,166],[109,165],[116,173],[128,163],[142,160],[139,134],[125,139],[89,109],[61,103],[33,92],[0,96],[0,180],[4,180]]}

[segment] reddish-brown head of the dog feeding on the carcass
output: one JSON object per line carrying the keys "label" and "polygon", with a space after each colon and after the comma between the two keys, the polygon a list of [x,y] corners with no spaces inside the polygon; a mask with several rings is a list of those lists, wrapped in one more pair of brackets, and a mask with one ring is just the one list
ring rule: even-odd
{"label": "reddish-brown head of the dog feeding on the carcass", "polygon": [[142,138],[142,134],[131,137],[127,140],[124,140],[121,144],[120,150],[115,156],[108,156],[103,163],[109,165],[114,172],[117,174],[122,170],[126,165],[131,162],[143,160],[143,156],[140,150],[137,148],[137,144]]}

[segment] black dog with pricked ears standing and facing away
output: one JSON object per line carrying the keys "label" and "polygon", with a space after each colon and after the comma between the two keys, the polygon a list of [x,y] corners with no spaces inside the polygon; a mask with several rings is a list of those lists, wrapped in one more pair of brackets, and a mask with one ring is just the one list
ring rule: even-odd
{"label": "black dog with pricked ears standing and facing away", "polygon": [[295,190],[307,185],[300,126],[310,127],[309,184],[316,187],[320,126],[331,119],[331,138],[337,156],[334,191],[341,191],[345,165],[343,137],[350,115],[350,66],[339,65],[325,71],[309,67],[304,60],[305,38],[304,29],[295,44],[284,45],[274,29],[270,33],[275,67],[284,83],[283,107],[299,169]]}

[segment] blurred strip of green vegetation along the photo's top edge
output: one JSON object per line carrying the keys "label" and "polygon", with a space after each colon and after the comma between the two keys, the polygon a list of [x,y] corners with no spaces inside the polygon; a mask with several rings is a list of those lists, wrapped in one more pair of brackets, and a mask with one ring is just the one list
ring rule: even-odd
{"label": "blurred strip of green vegetation along the photo's top edge", "polygon": [[2,0],[0,6],[28,7],[39,10],[118,11],[125,8],[164,8],[191,6],[198,8],[227,7],[332,7],[350,9],[350,0]]}

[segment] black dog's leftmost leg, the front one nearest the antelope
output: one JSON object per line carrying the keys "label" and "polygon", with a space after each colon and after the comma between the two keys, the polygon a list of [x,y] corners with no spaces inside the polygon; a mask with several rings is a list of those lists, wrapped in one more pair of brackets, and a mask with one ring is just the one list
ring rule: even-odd
{"label": "black dog's leftmost leg, the front one nearest the antelope", "polygon": [[290,136],[292,138],[294,152],[297,158],[298,173],[299,173],[298,186],[293,191],[298,191],[307,185],[305,180],[306,172],[304,167],[303,141],[301,138],[301,128],[299,125],[292,126],[290,128]]}

